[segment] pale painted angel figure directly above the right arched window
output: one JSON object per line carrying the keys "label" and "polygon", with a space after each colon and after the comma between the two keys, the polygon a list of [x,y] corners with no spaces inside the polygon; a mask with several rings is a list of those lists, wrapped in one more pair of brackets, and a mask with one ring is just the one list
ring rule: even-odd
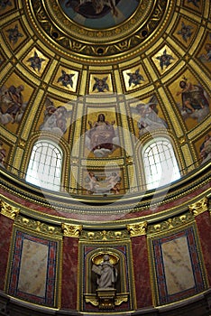
{"label": "pale painted angel figure directly above the right arched window", "polygon": [[139,136],[145,133],[151,133],[157,128],[167,128],[168,125],[164,119],[158,116],[158,100],[152,96],[148,103],[140,103],[132,111],[140,117],[138,121]]}

